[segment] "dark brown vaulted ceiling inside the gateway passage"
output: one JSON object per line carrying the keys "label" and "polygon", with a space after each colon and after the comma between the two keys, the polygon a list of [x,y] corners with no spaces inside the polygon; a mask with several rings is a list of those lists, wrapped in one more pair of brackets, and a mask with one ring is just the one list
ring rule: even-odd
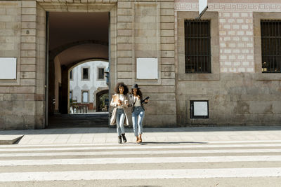
{"label": "dark brown vaulted ceiling inside the gateway passage", "polygon": [[[108,43],[108,13],[49,13],[49,50],[79,41]],[[86,43],[66,48],[58,54],[61,65],[90,58],[108,59],[108,46]]]}

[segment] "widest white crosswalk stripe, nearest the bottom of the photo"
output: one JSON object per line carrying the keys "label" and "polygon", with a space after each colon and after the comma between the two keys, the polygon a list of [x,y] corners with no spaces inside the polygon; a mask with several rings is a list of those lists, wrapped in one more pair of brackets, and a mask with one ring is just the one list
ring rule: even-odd
{"label": "widest white crosswalk stripe, nearest the bottom of the photo", "polygon": [[[16,176],[16,177],[15,177]],[[228,169],[150,169],[71,172],[1,173],[0,181],[69,181],[100,179],[190,179],[281,176],[281,167]]]}

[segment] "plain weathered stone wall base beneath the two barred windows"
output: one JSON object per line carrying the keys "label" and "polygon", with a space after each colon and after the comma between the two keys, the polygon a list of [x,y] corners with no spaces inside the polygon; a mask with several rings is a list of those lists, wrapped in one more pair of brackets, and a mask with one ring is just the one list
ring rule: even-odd
{"label": "plain weathered stone wall base beneath the two barred windows", "polygon": [[[178,82],[178,125],[281,125],[280,81],[220,74],[220,81]],[[209,100],[208,119],[190,119],[190,100]]]}

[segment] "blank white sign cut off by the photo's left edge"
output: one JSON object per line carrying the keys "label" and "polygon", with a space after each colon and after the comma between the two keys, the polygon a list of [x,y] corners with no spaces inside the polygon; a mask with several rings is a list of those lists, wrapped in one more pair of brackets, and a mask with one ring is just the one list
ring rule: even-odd
{"label": "blank white sign cut off by the photo's left edge", "polygon": [[17,58],[0,57],[0,79],[17,78]]}

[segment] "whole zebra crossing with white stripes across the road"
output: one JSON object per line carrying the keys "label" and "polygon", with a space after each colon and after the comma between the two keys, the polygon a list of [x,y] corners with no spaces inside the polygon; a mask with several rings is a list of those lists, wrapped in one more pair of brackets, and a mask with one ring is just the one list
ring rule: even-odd
{"label": "whole zebra crossing with white stripes across the road", "polygon": [[214,142],[0,146],[0,182],[281,176],[281,141]]}

